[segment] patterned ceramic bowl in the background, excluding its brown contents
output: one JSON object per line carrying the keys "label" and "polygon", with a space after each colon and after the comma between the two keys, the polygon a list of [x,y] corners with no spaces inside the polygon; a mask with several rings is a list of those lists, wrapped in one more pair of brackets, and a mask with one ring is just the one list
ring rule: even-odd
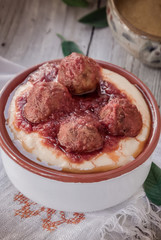
{"label": "patterned ceramic bowl in the background, excluding its brown contents", "polygon": [[143,32],[129,23],[119,13],[115,0],[107,1],[107,19],[121,46],[144,64],[161,68],[161,37]]}

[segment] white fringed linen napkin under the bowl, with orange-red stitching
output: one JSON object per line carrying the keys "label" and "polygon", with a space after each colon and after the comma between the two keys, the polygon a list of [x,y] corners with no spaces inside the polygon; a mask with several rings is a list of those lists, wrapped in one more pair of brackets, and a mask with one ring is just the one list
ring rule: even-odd
{"label": "white fringed linen napkin under the bowl, with orange-red stitching", "polygon": [[[25,68],[0,57],[0,89]],[[161,139],[153,161],[161,167]],[[9,181],[0,159],[0,239],[161,239],[161,208],[141,188],[126,202],[92,213],[56,211],[32,202]],[[160,236],[160,237],[159,237]]]}

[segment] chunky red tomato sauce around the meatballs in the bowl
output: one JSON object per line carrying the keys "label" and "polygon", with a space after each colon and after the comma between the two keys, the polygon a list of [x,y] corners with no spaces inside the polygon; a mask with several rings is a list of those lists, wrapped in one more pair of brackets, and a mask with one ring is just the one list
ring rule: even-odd
{"label": "chunky red tomato sauce around the meatballs in the bowl", "polygon": [[[42,79],[41,79],[42,81]],[[49,81],[44,78],[43,81]],[[126,95],[121,93],[113,84],[101,80],[99,86],[93,93],[88,93],[80,96],[72,96],[73,106],[70,113],[53,112],[47,119],[38,124],[29,122],[23,114],[23,108],[27,101],[27,96],[24,94],[16,99],[16,122],[18,129],[22,129],[26,133],[38,132],[44,138],[44,144],[59,149],[65,153],[66,157],[71,162],[81,163],[84,160],[88,161],[100,153],[110,152],[118,148],[118,143],[123,137],[110,136],[106,131],[106,127],[101,125],[101,134],[104,136],[104,147],[101,150],[90,153],[69,153],[62,148],[58,142],[57,134],[61,122],[70,115],[82,116],[92,115],[99,121],[98,115],[102,107],[104,107],[110,98],[126,98]]]}

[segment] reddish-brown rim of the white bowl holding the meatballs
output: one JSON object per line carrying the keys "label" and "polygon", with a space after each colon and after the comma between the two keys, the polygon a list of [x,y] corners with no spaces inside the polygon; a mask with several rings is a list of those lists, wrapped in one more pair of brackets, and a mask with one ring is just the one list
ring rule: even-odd
{"label": "reddish-brown rim of the white bowl holding the meatballs", "polygon": [[[60,63],[61,60],[53,60],[50,62],[54,63]],[[30,172],[33,172],[35,174],[38,174],[42,177],[54,179],[57,181],[62,182],[99,182],[111,178],[118,177],[122,174],[128,173],[132,171],[133,169],[139,167],[141,164],[143,164],[152,154],[154,151],[157,142],[159,140],[160,136],[160,128],[161,128],[161,122],[160,122],[160,113],[159,109],[156,103],[156,100],[154,99],[154,96],[150,92],[150,90],[146,87],[144,83],[141,82],[136,76],[134,76],[132,73],[126,71],[125,69],[122,69],[121,67],[118,67],[116,65],[113,65],[111,63],[103,62],[103,61],[97,61],[98,64],[100,64],[101,67],[109,69],[111,71],[114,71],[123,77],[127,78],[129,82],[134,84],[142,93],[144,96],[149,109],[151,113],[151,119],[152,119],[152,126],[151,126],[151,132],[149,136],[148,143],[143,150],[143,152],[132,162],[126,164],[125,166],[116,168],[114,170],[110,170],[107,172],[98,172],[98,173],[69,173],[69,172],[63,172],[63,171],[57,171],[53,170],[51,168],[47,168],[44,166],[41,166],[32,160],[28,159],[22,153],[18,151],[18,149],[14,146],[11,138],[9,137],[5,124],[6,119],[4,116],[4,110],[7,103],[7,100],[12,93],[12,91],[21,84],[25,78],[33,71],[35,71],[40,65],[36,65],[34,67],[31,67],[27,69],[26,71],[22,72],[18,76],[16,76],[13,80],[11,80],[9,83],[6,84],[6,86],[1,91],[0,95],[0,145],[2,149],[7,153],[7,155],[15,161],[17,164],[22,166],[23,168],[27,169]]]}

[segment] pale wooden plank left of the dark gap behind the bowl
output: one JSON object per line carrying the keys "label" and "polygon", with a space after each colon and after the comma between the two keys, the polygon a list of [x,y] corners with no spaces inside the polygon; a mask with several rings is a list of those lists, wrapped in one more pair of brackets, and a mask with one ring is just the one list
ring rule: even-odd
{"label": "pale wooden plank left of the dark gap behind the bowl", "polygon": [[77,20],[96,8],[97,1],[88,8],[68,7],[60,0],[7,0],[4,4],[12,7],[8,14],[7,7],[3,9],[3,18],[7,17],[5,24],[4,19],[0,22],[0,40],[6,46],[0,47],[0,55],[24,66],[62,57],[56,33],[76,41],[86,53],[91,28]]}

